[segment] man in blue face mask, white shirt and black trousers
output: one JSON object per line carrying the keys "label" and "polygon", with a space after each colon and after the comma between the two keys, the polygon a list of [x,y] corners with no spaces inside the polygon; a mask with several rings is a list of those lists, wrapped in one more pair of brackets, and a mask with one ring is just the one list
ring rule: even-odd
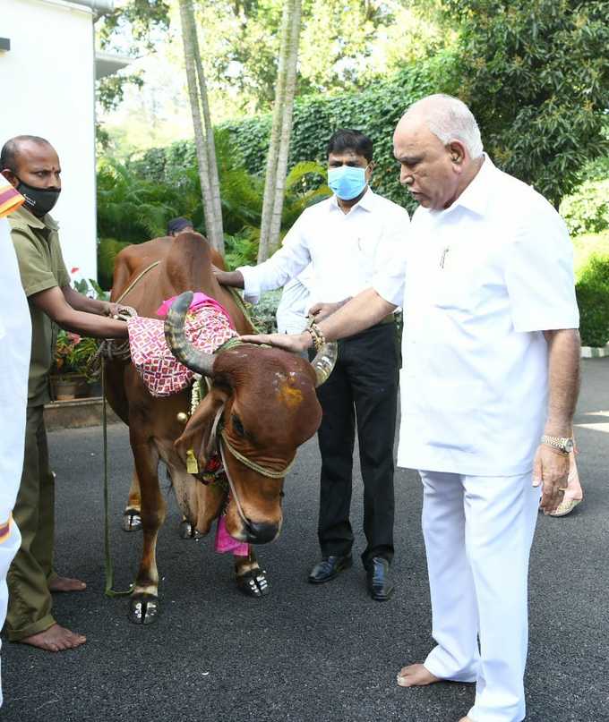
{"label": "man in blue face mask, white shirt and black trousers", "polygon": [[372,327],[339,342],[339,360],[318,389],[323,410],[318,433],[322,561],[309,574],[312,583],[329,582],[352,565],[349,509],[357,425],[367,540],[362,561],[371,597],[383,601],[393,591],[389,568],[399,361],[392,310],[401,303],[409,218],[404,208],[370,189],[373,143],[363,133],[335,132],[328,166],[334,195],[304,211],[282,248],[260,266],[217,277],[220,283],[244,288],[245,299],[256,302],[263,291],[285,285],[311,264],[311,311],[318,319],[365,289],[391,300],[391,310],[368,325]]}

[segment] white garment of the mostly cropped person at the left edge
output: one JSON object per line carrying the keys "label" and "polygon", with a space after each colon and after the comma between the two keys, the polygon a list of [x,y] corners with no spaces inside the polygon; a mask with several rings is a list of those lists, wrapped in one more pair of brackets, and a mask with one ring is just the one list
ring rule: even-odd
{"label": "white garment of the mostly cropped person at the left edge", "polygon": [[[0,409],[4,419],[0,434],[0,523],[4,523],[13,512],[23,468],[31,346],[30,310],[4,218],[0,218],[0,344]],[[12,523],[9,537],[0,544],[0,627],[8,600],[6,573],[20,543],[21,535]]]}

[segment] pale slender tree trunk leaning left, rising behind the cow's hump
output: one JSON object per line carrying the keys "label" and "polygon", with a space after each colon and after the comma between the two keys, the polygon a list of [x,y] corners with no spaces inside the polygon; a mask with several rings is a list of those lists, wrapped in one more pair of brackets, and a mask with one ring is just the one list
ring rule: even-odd
{"label": "pale slender tree trunk leaning left, rising behind the cow's hump", "polygon": [[192,0],[179,0],[179,5],[188,97],[193,114],[194,144],[197,150],[203,209],[205,212],[205,229],[211,245],[220,253],[224,253],[218,164],[216,162],[205,75],[199,51],[199,39],[194,21],[193,3]]}

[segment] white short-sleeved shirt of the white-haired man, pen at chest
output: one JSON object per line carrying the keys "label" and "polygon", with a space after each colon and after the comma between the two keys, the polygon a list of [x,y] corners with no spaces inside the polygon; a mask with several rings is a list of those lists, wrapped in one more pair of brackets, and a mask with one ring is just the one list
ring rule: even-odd
{"label": "white short-sleeved shirt of the white-haired man, pen at chest", "polygon": [[485,157],[450,208],[416,209],[411,236],[398,463],[526,473],[547,414],[542,331],[579,327],[562,218]]}

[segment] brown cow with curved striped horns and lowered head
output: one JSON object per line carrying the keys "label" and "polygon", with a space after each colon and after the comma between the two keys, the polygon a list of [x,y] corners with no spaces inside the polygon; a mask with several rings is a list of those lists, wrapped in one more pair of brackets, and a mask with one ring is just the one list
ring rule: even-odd
{"label": "brown cow with curved striped horns and lowered head", "polygon": [[[107,401],[129,426],[134,486],[141,494],[142,560],[129,603],[134,624],[150,624],[159,613],[155,548],[167,507],[159,488],[159,462],[166,464],[182,513],[197,532],[208,533],[224,513],[234,539],[248,544],[276,539],[284,478],[297,447],[313,436],[322,420],[315,387],[328,377],[336,353],[335,344],[322,347],[311,362],[254,344],[202,353],[184,335],[189,292],[201,291],[220,302],[238,333],[251,331],[239,304],[214,276],[208,242],[200,234],[184,233],[170,242],[157,239],[146,245],[142,264],[133,260],[132,249],[125,250],[131,251],[129,274],[124,273],[124,251],[117,255],[111,299],[122,297],[138,315],[158,318],[159,305],[178,296],[165,324],[167,341],[178,361],[208,379],[209,391],[184,426],[191,402],[188,390],[155,397],[133,362],[107,361]],[[150,268],[153,260],[159,263]],[[142,265],[150,268],[144,275]],[[186,471],[187,451],[194,450],[203,469],[216,448],[230,481],[229,494]],[[257,563],[244,557],[244,565],[255,568]]]}

